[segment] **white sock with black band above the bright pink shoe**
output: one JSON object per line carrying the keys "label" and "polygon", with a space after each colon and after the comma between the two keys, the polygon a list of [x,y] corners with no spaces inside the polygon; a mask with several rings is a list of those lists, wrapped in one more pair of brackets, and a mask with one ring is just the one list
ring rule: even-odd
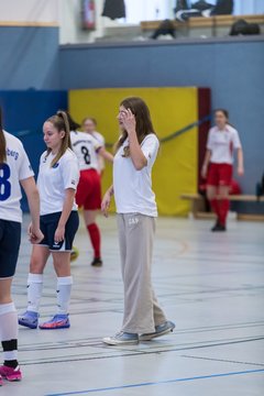
{"label": "white sock with black band above the bright pink shoe", "polygon": [[18,314],[13,302],[0,304],[0,340],[4,349],[7,344],[15,345],[3,351],[3,360],[18,360]]}

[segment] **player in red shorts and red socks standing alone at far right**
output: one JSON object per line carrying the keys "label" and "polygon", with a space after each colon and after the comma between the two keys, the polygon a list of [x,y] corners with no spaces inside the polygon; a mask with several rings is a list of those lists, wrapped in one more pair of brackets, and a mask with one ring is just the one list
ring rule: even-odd
{"label": "player in red shorts and red socks standing alone at far right", "polygon": [[209,131],[201,175],[207,178],[207,197],[217,215],[212,231],[226,231],[233,153],[234,150],[238,151],[238,175],[242,176],[244,174],[243,152],[238,131],[229,124],[228,111],[216,110],[215,122],[216,127]]}

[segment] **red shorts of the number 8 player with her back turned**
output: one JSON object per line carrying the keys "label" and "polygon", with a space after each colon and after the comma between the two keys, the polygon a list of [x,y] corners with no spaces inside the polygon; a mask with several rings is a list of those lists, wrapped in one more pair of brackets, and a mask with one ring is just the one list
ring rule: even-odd
{"label": "red shorts of the number 8 player with her back turned", "polygon": [[76,204],[85,210],[101,208],[101,179],[96,169],[80,170]]}

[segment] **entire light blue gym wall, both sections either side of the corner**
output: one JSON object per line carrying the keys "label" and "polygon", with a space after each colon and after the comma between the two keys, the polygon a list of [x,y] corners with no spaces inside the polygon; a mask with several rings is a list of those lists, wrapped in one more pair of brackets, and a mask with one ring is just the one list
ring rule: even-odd
{"label": "entire light blue gym wall, both sections either side of the corner", "polygon": [[[240,132],[240,183],[243,193],[254,194],[264,168],[263,36],[58,47],[55,25],[1,25],[0,45],[0,89],[210,87],[212,108],[229,109]],[[248,205],[239,210],[248,211]]]}

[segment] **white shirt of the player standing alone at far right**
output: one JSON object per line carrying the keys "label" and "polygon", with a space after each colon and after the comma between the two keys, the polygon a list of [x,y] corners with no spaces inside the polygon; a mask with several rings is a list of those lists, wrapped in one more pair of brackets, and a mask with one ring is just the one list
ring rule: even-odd
{"label": "white shirt of the player standing alone at far right", "polygon": [[233,151],[240,148],[241,143],[238,131],[227,125],[224,130],[213,127],[209,131],[207,148],[211,151],[211,163],[233,164]]}

